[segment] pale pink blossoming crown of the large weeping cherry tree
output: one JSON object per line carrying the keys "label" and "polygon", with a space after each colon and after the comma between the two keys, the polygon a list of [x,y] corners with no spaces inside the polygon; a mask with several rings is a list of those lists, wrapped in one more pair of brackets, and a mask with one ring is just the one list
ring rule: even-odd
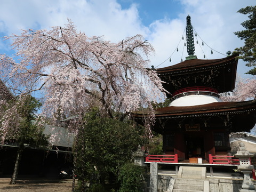
{"label": "pale pink blossoming crown of the large weeping cherry tree", "polygon": [[79,117],[97,103],[110,117],[114,111],[147,108],[146,125],[154,122],[151,102],[164,99],[165,90],[156,72],[147,69],[154,49],[141,35],[111,43],[87,37],[68,20],[64,27],[28,29],[6,38],[16,54],[0,55],[0,77],[14,95],[43,94],[42,115]]}

